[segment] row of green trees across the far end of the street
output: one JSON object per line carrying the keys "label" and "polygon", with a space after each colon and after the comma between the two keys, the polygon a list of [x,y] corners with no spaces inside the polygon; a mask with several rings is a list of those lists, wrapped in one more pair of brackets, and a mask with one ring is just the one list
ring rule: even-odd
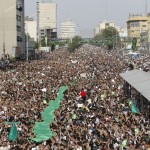
{"label": "row of green trees across the far end of the street", "polygon": [[[84,43],[106,47],[109,50],[123,48],[126,47],[127,43],[129,43],[128,40],[129,40],[128,38],[121,39],[119,36],[119,32],[117,31],[116,28],[108,27],[102,30],[101,33],[97,34],[94,38],[89,40],[82,39],[80,36],[75,36],[74,38],[68,40],[58,40],[58,39],[46,40],[45,38],[43,38],[40,44],[36,43],[35,45],[37,49],[39,46],[55,47],[55,45],[59,46],[67,45],[68,50],[70,52],[74,52],[76,48],[79,48]],[[130,43],[132,43],[131,40]]]}

